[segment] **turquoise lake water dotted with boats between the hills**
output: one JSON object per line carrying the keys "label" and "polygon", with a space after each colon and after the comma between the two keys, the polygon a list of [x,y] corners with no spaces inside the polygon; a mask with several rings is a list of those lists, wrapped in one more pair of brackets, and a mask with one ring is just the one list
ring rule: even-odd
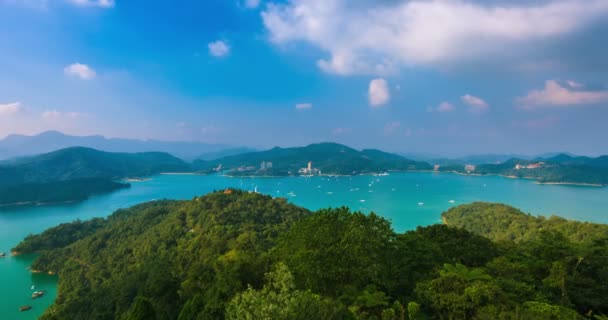
{"label": "turquoise lake water dotted with boats between the hills", "polygon": [[[227,187],[287,197],[319,209],[349,206],[374,211],[393,222],[397,231],[440,222],[451,206],[473,201],[503,202],[533,214],[608,223],[608,188],[538,185],[529,180],[436,173],[393,173],[389,176],[227,178],[160,175],[135,182],[132,188],[93,197],[77,204],[0,208],[0,252],[8,252],[30,233],[75,219],[104,217],[119,208],[155,199],[191,199]],[[453,200],[453,203],[450,202]],[[56,277],[31,274],[33,257],[0,258],[0,319],[36,319],[56,296]],[[31,286],[47,295],[31,300]],[[19,312],[19,306],[32,310]]]}

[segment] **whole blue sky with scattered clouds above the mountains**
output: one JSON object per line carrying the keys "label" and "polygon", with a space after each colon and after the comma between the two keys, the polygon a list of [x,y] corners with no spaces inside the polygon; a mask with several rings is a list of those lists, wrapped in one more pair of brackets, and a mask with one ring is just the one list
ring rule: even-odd
{"label": "whole blue sky with scattered clouds above the mountains", "polygon": [[0,0],[0,137],[608,154],[608,0]]}

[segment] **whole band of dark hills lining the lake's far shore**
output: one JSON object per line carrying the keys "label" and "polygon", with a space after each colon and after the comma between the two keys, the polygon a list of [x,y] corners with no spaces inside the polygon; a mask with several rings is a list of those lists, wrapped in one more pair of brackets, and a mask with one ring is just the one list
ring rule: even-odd
{"label": "whole band of dark hills lining the lake's far shore", "polygon": [[[10,139],[9,139],[10,140]],[[186,162],[165,152],[106,152],[70,147],[0,162],[0,205],[86,199],[126,188],[125,178],[162,172],[223,173],[229,176],[355,175],[387,171],[442,171],[535,179],[541,183],[608,185],[608,156],[559,154],[550,158],[511,158],[499,163],[465,165],[415,161],[375,149],[356,150],[337,143],[246,152],[231,149],[213,160]],[[219,157],[221,152],[210,155]]]}

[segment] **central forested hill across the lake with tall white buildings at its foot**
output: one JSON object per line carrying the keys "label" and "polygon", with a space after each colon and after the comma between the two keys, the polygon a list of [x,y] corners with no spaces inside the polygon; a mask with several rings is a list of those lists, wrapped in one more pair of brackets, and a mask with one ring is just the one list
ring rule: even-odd
{"label": "central forested hill across the lake with tall white buildings at its foot", "polygon": [[[385,172],[387,170],[429,170],[425,162],[413,161],[402,156],[374,149],[362,151],[337,144],[319,143],[297,148],[273,148],[223,157],[213,161],[195,162],[195,167],[209,170],[222,165],[229,174],[247,175],[296,175],[308,165],[324,174],[360,174]],[[271,162],[271,168],[261,168],[262,162]]]}

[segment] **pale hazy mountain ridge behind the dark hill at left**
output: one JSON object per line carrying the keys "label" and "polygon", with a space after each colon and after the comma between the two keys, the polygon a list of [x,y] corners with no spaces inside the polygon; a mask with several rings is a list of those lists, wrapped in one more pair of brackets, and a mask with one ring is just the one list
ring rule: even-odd
{"label": "pale hazy mountain ridge behind the dark hill at left", "polygon": [[119,139],[100,135],[71,136],[58,131],[46,131],[33,136],[14,134],[0,140],[0,159],[30,156],[76,146],[108,152],[167,152],[189,161],[201,154],[234,149],[227,145],[195,141]]}

